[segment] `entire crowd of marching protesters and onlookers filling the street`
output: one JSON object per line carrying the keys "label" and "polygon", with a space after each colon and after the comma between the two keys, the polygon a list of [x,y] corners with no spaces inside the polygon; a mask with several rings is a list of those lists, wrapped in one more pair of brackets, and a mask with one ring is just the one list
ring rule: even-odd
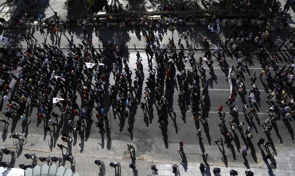
{"label": "entire crowd of marching protesters and onlookers filling the street", "polygon": [[[271,123],[276,123],[279,118],[283,120],[290,119],[290,111],[293,111],[294,99],[293,94],[295,87],[292,87],[294,75],[292,74],[295,67],[295,63],[292,65],[279,64],[277,62],[277,55],[273,51],[274,49],[288,48],[292,44],[294,48],[294,31],[291,30],[290,35],[286,41],[270,41],[267,48],[267,40],[269,39],[269,32],[262,27],[262,21],[272,17],[278,17],[284,21],[286,19],[285,14],[289,10],[289,3],[283,8],[280,7],[280,3],[276,0],[266,1],[266,6],[272,8],[270,14],[266,14],[257,19],[256,29],[248,33],[246,31],[247,24],[251,23],[251,20],[245,19],[246,29],[238,32],[234,32],[231,39],[226,39],[225,43],[218,41],[215,47],[215,52],[211,53],[209,48],[209,40],[207,37],[203,38],[204,57],[199,57],[197,60],[194,58],[193,46],[189,45],[187,53],[185,47],[181,44],[181,39],[178,40],[178,45],[175,44],[173,39],[169,39],[169,43],[161,44],[154,32],[159,28],[158,24],[162,23],[170,24],[172,18],[165,19],[164,16],[158,19],[151,19],[144,15],[132,15],[131,18],[125,18],[118,20],[117,18],[110,16],[101,21],[102,25],[111,27],[111,22],[117,22],[118,26],[122,25],[125,29],[126,25],[131,25],[131,22],[135,22],[138,27],[140,22],[143,25],[147,25],[146,30],[146,55],[148,57],[148,76],[145,78],[143,73],[142,57],[141,53],[137,52],[136,57],[136,69],[130,70],[129,63],[126,58],[123,58],[120,49],[117,45],[114,45],[111,40],[107,43],[103,42],[102,49],[96,49],[91,39],[82,40],[78,43],[78,46],[72,41],[73,34],[70,32],[70,26],[80,25],[84,33],[87,33],[86,27],[88,23],[98,22],[95,18],[87,18],[79,20],[54,20],[46,22],[47,28],[54,35],[59,32],[62,33],[70,43],[70,49],[65,54],[62,49],[56,45],[50,45],[42,43],[42,47],[32,49],[30,46],[30,39],[34,37],[33,34],[24,34],[22,37],[26,40],[28,45],[25,52],[21,49],[15,49],[13,47],[9,49],[0,49],[1,53],[1,68],[0,68],[0,81],[5,85],[2,85],[4,90],[2,96],[5,104],[7,104],[7,111],[3,112],[6,118],[19,118],[22,122],[31,121],[28,119],[28,107],[36,108],[38,113],[36,116],[46,121],[44,131],[57,132],[52,130],[52,127],[60,125],[58,123],[59,117],[66,118],[67,125],[73,128],[74,131],[84,132],[83,125],[84,120],[90,120],[92,116],[95,116],[96,127],[105,129],[108,125],[109,118],[107,112],[108,109],[104,108],[106,99],[111,101],[112,107],[115,113],[122,113],[128,121],[134,118],[134,114],[130,112],[134,106],[134,97],[141,95],[139,90],[143,89],[143,97],[140,103],[142,109],[149,109],[149,105],[155,105],[158,115],[159,127],[165,128],[164,114],[173,112],[173,93],[170,91],[171,81],[174,81],[174,76],[177,78],[177,84],[179,87],[179,93],[177,98],[177,104],[184,104],[186,95],[189,94],[189,105],[191,113],[198,115],[202,124],[207,123],[208,111],[206,110],[206,97],[208,96],[208,83],[206,79],[205,65],[207,65],[210,71],[213,69],[213,56],[217,54],[217,60],[219,65],[222,66],[226,62],[226,52],[228,49],[233,49],[233,54],[237,57],[237,64],[229,68],[229,76],[226,78],[230,84],[232,84],[232,92],[228,97],[226,104],[229,104],[232,119],[230,120],[230,130],[220,140],[217,140],[217,145],[223,145],[224,138],[231,139],[235,129],[241,129],[245,124],[241,122],[236,124],[236,113],[238,113],[238,107],[236,105],[236,96],[245,91],[245,85],[243,84],[243,72],[241,64],[247,62],[246,53],[250,47],[257,47],[257,57],[261,62],[261,72],[253,72],[251,75],[251,89],[249,90],[249,104],[245,104],[241,110],[253,118],[255,113],[257,94],[257,76],[265,75],[269,87],[273,87],[274,91],[269,95],[271,107],[266,110],[269,113],[270,118],[265,119],[261,125],[264,127],[264,132],[269,133],[272,130]],[[244,5],[241,4],[241,8]],[[196,25],[205,23],[208,25],[209,32],[217,30],[216,15],[205,20],[198,18],[193,19]],[[18,19],[18,24],[10,24],[11,27],[26,27],[26,19]],[[189,18],[191,20],[191,18]],[[2,20],[0,19],[0,22]],[[180,22],[179,19],[176,22]],[[185,21],[187,22],[187,21]],[[184,23],[185,23],[184,22]],[[284,21],[284,24],[287,21]],[[5,22],[3,22],[5,24]],[[97,23],[100,24],[100,23]],[[157,24],[157,25],[154,25]],[[182,24],[182,21],[180,22]],[[67,29],[66,29],[67,28]],[[39,28],[40,35],[47,35],[44,30]],[[36,34],[35,34],[36,35]],[[185,34],[186,35],[186,34]],[[69,38],[71,38],[71,40]],[[103,41],[102,36],[100,39]],[[187,41],[187,36],[184,37]],[[251,46],[252,45],[252,46]],[[177,46],[180,49],[177,49]],[[243,48],[243,49],[240,49]],[[273,58],[264,60],[265,50],[269,49],[269,52],[273,54]],[[151,55],[150,52],[153,54]],[[150,56],[150,57],[149,57]],[[291,53],[289,60],[293,62],[295,53]],[[155,65],[153,65],[153,60]],[[111,62],[111,61],[114,61]],[[187,62],[189,62],[192,68],[192,78],[187,75]],[[88,67],[85,63],[95,63],[95,66]],[[174,66],[177,67],[180,74],[173,73]],[[273,68],[273,71],[270,68]],[[16,74],[17,69],[20,69],[19,75]],[[234,75],[235,73],[235,75]],[[131,76],[132,75],[132,76]],[[232,82],[236,76],[236,81]],[[114,80],[114,83],[109,83],[110,78]],[[192,85],[188,84],[188,79],[192,79]],[[16,80],[16,84],[9,84],[11,80]],[[95,83],[93,83],[93,81]],[[130,81],[133,80],[133,81]],[[201,86],[200,86],[201,83]],[[143,88],[143,85],[146,85]],[[12,85],[12,86],[11,86]],[[117,85],[117,86],[114,86]],[[286,93],[290,92],[289,96]],[[13,96],[8,96],[9,93],[15,92]],[[108,93],[108,94],[107,94]],[[52,100],[54,97],[60,97],[63,101],[58,101],[52,106]],[[81,102],[77,101],[78,96]],[[225,97],[226,99],[227,97]],[[290,100],[288,100],[288,98]],[[96,103],[93,105],[93,101]],[[278,103],[276,105],[276,102]],[[278,107],[281,111],[278,113]],[[55,111],[53,111],[55,109]],[[59,113],[56,113],[59,109]],[[96,112],[94,112],[96,111]],[[225,115],[223,105],[218,108],[219,117],[217,124],[220,126],[221,131],[225,127]],[[280,117],[281,116],[281,117]],[[75,117],[78,119],[74,120]],[[55,119],[52,119],[55,118]],[[56,123],[55,123],[56,121]],[[60,120],[62,121],[62,119]],[[6,119],[0,118],[0,122],[9,123]],[[54,128],[53,128],[54,129]],[[251,133],[252,127],[247,127],[244,133],[246,139],[251,140],[253,134]],[[201,129],[197,129],[197,135],[201,139]],[[243,135],[243,134],[241,134]],[[66,132],[62,132],[62,141],[70,143],[70,135]],[[259,145],[264,143],[264,139],[259,140]],[[271,141],[266,142],[265,147],[272,145]],[[61,149],[66,148],[60,144]],[[131,147],[132,149],[132,147]],[[134,149],[134,147],[133,147]],[[267,148],[268,149],[268,148]],[[248,146],[244,147],[243,155],[247,155]],[[180,143],[178,152],[183,152],[183,141]],[[33,156],[33,155],[30,155]],[[264,157],[268,159],[273,154],[268,150],[268,154]],[[208,154],[203,153],[203,158],[206,159]],[[73,162],[72,156],[64,156],[64,158],[70,162]],[[58,157],[40,157],[40,161],[48,162],[50,159],[54,162],[61,161]],[[97,161],[98,165],[99,162]],[[112,167],[117,166],[115,163],[110,164]],[[157,170],[155,165],[151,166],[153,170]],[[176,166],[175,166],[176,167]],[[130,168],[136,170],[135,165],[130,165]],[[205,171],[205,165],[200,164],[201,171]],[[215,172],[220,172],[220,168],[216,168]],[[234,171],[232,172],[233,175]]]}

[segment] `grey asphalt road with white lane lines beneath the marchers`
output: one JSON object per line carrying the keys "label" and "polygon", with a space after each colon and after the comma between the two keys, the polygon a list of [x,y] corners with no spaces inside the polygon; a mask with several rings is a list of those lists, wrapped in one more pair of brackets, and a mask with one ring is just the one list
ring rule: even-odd
{"label": "grey asphalt road with white lane lines beneath the marchers", "polygon": [[[121,51],[123,57],[129,62],[130,70],[134,70],[136,68],[136,51],[134,50],[122,50]],[[142,65],[143,65],[143,73],[144,80],[148,77],[147,72],[147,56],[143,50],[140,50],[142,56]],[[273,55],[274,53],[270,54]],[[279,62],[290,65],[288,62],[289,53],[288,52],[278,52]],[[253,55],[253,53],[250,53]],[[156,106],[149,105],[148,110],[142,110],[139,106],[140,102],[143,100],[143,90],[145,88],[145,81],[140,81],[142,85],[142,89],[138,92],[136,100],[132,104],[132,108],[130,109],[130,120],[125,119],[124,116],[115,114],[113,111],[113,107],[108,99],[105,96],[105,100],[102,102],[102,107],[107,110],[110,121],[106,126],[106,132],[100,130],[99,128],[95,128],[93,126],[94,122],[91,120],[85,120],[86,130],[78,137],[84,138],[86,141],[88,138],[98,139],[99,143],[106,143],[107,147],[111,147],[109,141],[111,140],[121,140],[121,141],[132,141],[137,146],[137,158],[142,160],[150,160],[150,161],[165,161],[165,162],[178,162],[182,159],[182,162],[190,163],[190,162],[199,162],[202,160],[201,154],[206,152],[209,154],[207,162],[209,164],[221,164],[221,165],[257,165],[262,161],[262,154],[264,154],[265,150],[262,146],[262,149],[257,146],[257,141],[260,138],[264,138],[266,140],[273,140],[275,143],[275,147],[273,150],[276,151],[280,148],[280,146],[293,146],[294,145],[294,132],[293,132],[293,123],[294,117],[291,118],[289,123],[285,123],[282,120],[277,121],[276,124],[273,124],[273,130],[271,131],[271,135],[266,135],[262,132],[263,127],[259,126],[259,123],[262,123],[263,120],[269,118],[268,113],[265,111],[271,107],[270,104],[266,103],[267,97],[272,91],[273,88],[266,86],[265,76],[259,79],[257,78],[257,88],[258,90],[255,92],[255,97],[257,98],[257,105],[255,105],[254,118],[251,119],[249,116],[244,115],[241,111],[242,105],[248,103],[248,92],[251,86],[249,85],[252,72],[256,71],[259,73],[261,71],[261,65],[257,59],[251,58],[249,59],[250,63],[243,63],[243,83],[245,85],[244,92],[238,93],[236,95],[237,106],[239,108],[239,113],[236,119],[236,123],[239,124],[241,121],[245,122],[243,129],[251,126],[253,127],[253,139],[250,141],[245,140],[245,135],[240,133],[238,129],[235,130],[233,134],[233,139],[225,140],[226,144],[224,145],[225,154],[223,155],[222,147],[218,147],[215,144],[215,140],[218,140],[220,137],[224,137],[227,130],[230,129],[228,124],[229,120],[232,118],[228,113],[229,110],[227,105],[224,103],[227,100],[227,97],[230,94],[229,83],[225,81],[225,78],[228,76],[228,68],[231,65],[235,65],[237,60],[231,54],[231,57],[226,58],[226,62],[228,65],[225,65],[221,68],[214,59],[214,69],[209,73],[208,66],[205,66],[206,69],[206,78],[208,81],[208,96],[205,101],[205,109],[209,111],[208,125],[202,125],[201,122],[197,120],[197,116],[193,117],[190,106],[188,105],[188,101],[186,101],[185,105],[179,106],[177,105],[177,96],[178,96],[178,88],[179,85],[176,80],[172,80],[170,92],[171,96],[169,98],[169,104],[173,106],[175,114],[166,114],[165,116],[165,126],[162,130],[158,127],[158,117],[156,114]],[[128,58],[127,58],[128,57]],[[203,52],[197,51],[194,55],[195,58],[203,57]],[[267,59],[268,56],[265,56],[264,59]],[[150,57],[149,57],[150,59]],[[153,60],[153,59],[152,59]],[[111,66],[112,62],[110,62]],[[155,64],[155,60],[153,60],[153,65]],[[189,63],[186,64],[187,75],[188,75],[188,84],[191,87],[192,73]],[[179,73],[180,71],[177,68],[172,69],[173,74]],[[271,70],[273,72],[273,70]],[[175,74],[174,74],[175,73]],[[133,74],[134,75],[134,74]],[[133,83],[134,76],[131,76]],[[176,78],[175,78],[176,79]],[[94,83],[94,79],[92,80]],[[112,80],[112,76],[109,80],[110,83],[115,81]],[[108,84],[108,82],[106,82]],[[117,90],[117,89],[116,89]],[[286,89],[288,90],[288,89]],[[106,89],[107,92],[107,89]],[[186,90],[187,96],[189,95],[189,90]],[[287,92],[289,94],[289,92]],[[59,94],[58,94],[59,95]],[[78,95],[78,94],[77,94]],[[107,95],[107,94],[106,94]],[[153,97],[153,95],[150,95]],[[290,96],[290,95],[289,95]],[[54,96],[55,97],[55,96]],[[290,100],[290,97],[288,98]],[[76,102],[80,105],[81,98],[78,95]],[[224,106],[224,111],[226,112],[226,128],[221,129],[217,126],[219,124],[217,108],[219,105]],[[276,103],[277,105],[277,103]],[[6,111],[6,102],[1,100],[1,111]],[[29,119],[31,119],[31,123],[29,126],[21,123],[19,119],[10,119],[11,126],[9,126],[9,132],[22,132],[22,133],[33,133],[40,134],[45,136],[49,135],[48,132],[43,131],[43,122],[41,119],[37,118],[37,109],[36,108],[27,108]],[[60,113],[58,108],[53,109],[54,112]],[[277,112],[279,112],[279,107],[277,107]],[[93,110],[93,114],[96,111]],[[49,115],[46,115],[49,116]],[[78,119],[78,117],[71,116],[72,119]],[[95,118],[92,118],[95,120]],[[4,123],[0,124],[0,127],[4,128]],[[202,140],[199,140],[197,137],[197,129],[201,129],[202,131]],[[66,124],[66,120],[64,119],[62,126],[57,127],[57,131],[69,131],[70,135],[72,135],[72,130]],[[74,135],[75,136],[75,135]],[[54,137],[54,140],[60,137],[60,134]],[[1,146],[5,146],[6,136],[3,136],[3,143]],[[184,140],[184,156],[178,156],[176,149],[178,149],[179,140]],[[42,142],[42,141],[40,141]],[[87,142],[85,142],[85,145]],[[251,152],[247,158],[243,158],[241,155],[241,151],[243,150],[242,146],[247,146],[250,148],[248,154]],[[219,150],[218,150],[219,148]],[[120,150],[120,149],[118,149]],[[91,151],[83,151],[84,154],[91,154]]]}

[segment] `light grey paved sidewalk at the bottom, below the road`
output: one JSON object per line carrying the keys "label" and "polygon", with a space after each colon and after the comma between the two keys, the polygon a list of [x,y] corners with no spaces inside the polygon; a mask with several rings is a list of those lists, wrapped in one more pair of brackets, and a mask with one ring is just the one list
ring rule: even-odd
{"label": "light grey paved sidewalk at the bottom, below the road", "polygon": [[[263,147],[263,146],[262,146]],[[66,150],[64,149],[66,152]],[[47,164],[47,162],[40,162],[39,160],[32,161],[31,159],[27,160],[24,157],[24,154],[29,153],[27,150],[18,150],[15,157],[10,155],[4,155],[0,158],[2,162],[11,162],[14,163],[15,168],[19,168],[19,164],[32,164],[33,166],[39,165],[42,166]],[[62,157],[61,152],[34,152],[38,157]],[[281,151],[277,153],[277,156],[269,159],[266,163],[261,164],[259,167],[251,167],[250,170],[253,171],[255,176],[269,175],[269,176],[293,176],[295,175],[295,148],[294,147],[284,147]],[[175,162],[178,166],[178,172],[172,173],[172,165],[174,163],[153,163],[145,162],[140,160],[132,159],[123,159],[116,160],[110,158],[96,158],[96,157],[86,157],[80,155],[73,155],[74,163],[71,164],[67,161],[62,161],[61,163],[54,163],[57,166],[64,166],[66,169],[70,168],[73,172],[82,175],[99,175],[99,176],[146,176],[150,174],[163,175],[163,176],[200,176],[200,175],[214,175],[212,170],[213,167],[221,168],[221,176],[229,176],[229,171],[234,169],[238,171],[239,175],[245,175],[245,167],[225,167],[225,166],[214,166],[207,165],[205,173],[201,173],[199,169],[199,164],[187,164],[181,162]],[[94,164],[94,160],[100,159],[105,163],[104,166],[98,167]],[[115,170],[109,166],[110,162],[119,162],[120,166]],[[138,167],[137,171],[134,171],[129,168],[130,163],[135,163]],[[50,163],[52,164],[52,162]],[[152,172],[150,165],[155,164],[158,166],[158,172]]]}

